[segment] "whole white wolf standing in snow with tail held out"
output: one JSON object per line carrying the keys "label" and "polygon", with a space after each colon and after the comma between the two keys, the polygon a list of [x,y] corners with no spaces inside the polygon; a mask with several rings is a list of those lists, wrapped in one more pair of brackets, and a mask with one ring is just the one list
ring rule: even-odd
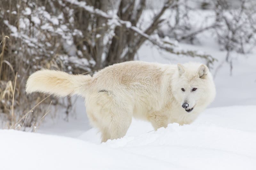
{"label": "whole white wolf standing in snow with tail held out", "polygon": [[173,122],[190,124],[216,93],[204,64],[143,61],[114,64],[93,76],[40,70],[29,76],[26,91],[83,96],[87,115],[100,130],[102,142],[124,137],[132,116],[151,122],[155,129]]}

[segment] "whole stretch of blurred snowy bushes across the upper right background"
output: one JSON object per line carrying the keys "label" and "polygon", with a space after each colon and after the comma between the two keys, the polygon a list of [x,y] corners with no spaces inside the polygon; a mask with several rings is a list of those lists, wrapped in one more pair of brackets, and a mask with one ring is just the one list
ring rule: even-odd
{"label": "whole stretch of blurred snowy bushes across the upper right background", "polygon": [[208,32],[218,41],[220,50],[227,51],[224,60],[232,71],[230,52],[250,53],[256,45],[255,5],[253,0],[180,0],[169,11],[169,19],[159,27],[158,34],[200,44],[197,37]]}

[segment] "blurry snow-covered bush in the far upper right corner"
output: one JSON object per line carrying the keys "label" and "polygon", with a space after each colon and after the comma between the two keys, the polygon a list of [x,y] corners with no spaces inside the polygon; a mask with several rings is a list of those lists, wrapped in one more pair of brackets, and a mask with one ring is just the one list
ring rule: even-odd
{"label": "blurry snow-covered bush in the far upper right corner", "polygon": [[235,8],[230,8],[228,3],[222,5],[224,0],[215,2],[216,22],[220,23],[215,28],[220,49],[227,51],[226,61],[232,70],[232,56],[230,52],[250,53],[256,45],[256,10],[255,2],[240,0]]}

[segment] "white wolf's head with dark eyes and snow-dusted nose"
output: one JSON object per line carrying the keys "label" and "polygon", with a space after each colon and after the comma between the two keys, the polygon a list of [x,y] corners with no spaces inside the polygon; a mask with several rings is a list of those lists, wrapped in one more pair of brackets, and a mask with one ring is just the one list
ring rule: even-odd
{"label": "white wolf's head with dark eyes and snow-dusted nose", "polygon": [[216,94],[209,69],[204,64],[178,64],[172,79],[172,91],[184,112],[201,112]]}

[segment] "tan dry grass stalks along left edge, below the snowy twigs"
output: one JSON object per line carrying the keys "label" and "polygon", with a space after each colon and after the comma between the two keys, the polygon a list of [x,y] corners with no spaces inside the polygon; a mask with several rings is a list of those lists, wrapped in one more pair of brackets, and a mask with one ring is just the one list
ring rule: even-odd
{"label": "tan dry grass stalks along left edge, below the snowy twigs", "polygon": [[[33,131],[37,131],[44,117],[50,112],[52,103],[50,103],[50,96],[26,95],[25,81],[29,72],[22,69],[24,63],[16,63],[16,60],[12,60],[8,53],[6,56],[6,51],[8,51],[6,40],[10,38],[2,37],[3,40],[0,42],[0,46],[2,46],[0,53],[0,119],[2,128],[29,130],[27,128],[29,127]],[[50,105],[45,109],[47,103]],[[28,110],[27,108],[32,109]]]}

